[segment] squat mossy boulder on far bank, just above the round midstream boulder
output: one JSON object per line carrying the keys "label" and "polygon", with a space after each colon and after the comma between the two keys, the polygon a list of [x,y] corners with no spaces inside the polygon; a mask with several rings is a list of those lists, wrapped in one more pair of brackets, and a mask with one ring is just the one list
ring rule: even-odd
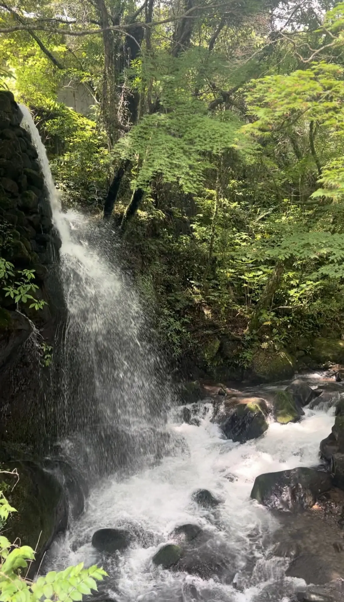
{"label": "squat mossy boulder on far bank, just above the round midstream boulder", "polygon": [[253,354],[251,371],[255,380],[272,382],[291,378],[295,365],[295,358],[284,350],[270,352],[257,349]]}

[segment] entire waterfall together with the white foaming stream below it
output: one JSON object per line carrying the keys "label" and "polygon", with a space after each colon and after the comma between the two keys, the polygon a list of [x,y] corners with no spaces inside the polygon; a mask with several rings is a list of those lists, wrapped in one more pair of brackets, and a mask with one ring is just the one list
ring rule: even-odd
{"label": "entire waterfall together with the white foaming stream below it", "polygon": [[[114,266],[113,249],[104,240],[109,232],[80,214],[61,213],[44,146],[28,110],[22,107],[22,112],[62,240],[68,320],[58,404],[61,422],[72,431],[65,446],[85,454],[86,463],[95,462],[98,474],[112,472],[93,486],[87,511],[55,542],[45,568],[82,560],[104,563],[109,580],[100,600],[295,600],[295,580],[284,577],[287,560],[264,544],[278,528],[278,518],[250,500],[250,491],[261,473],[318,464],[319,442],[331,430],[333,409],[306,409],[301,423],[271,422],[263,437],[245,444],[224,439],[209,415],[192,426],[172,411],[166,423],[171,389],[145,342],[137,296]],[[78,433],[86,441],[82,452]],[[212,491],[221,504],[202,509],[191,497],[198,488]],[[189,544],[185,569],[154,566],[159,545],[174,541],[173,530],[187,523],[203,535]],[[93,533],[102,527],[125,527],[137,536],[121,553],[102,557],[91,546]]]}

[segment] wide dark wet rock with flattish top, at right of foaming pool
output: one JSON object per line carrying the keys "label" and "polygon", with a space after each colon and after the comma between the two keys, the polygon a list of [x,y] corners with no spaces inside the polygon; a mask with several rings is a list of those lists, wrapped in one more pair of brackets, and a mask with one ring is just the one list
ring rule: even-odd
{"label": "wide dark wet rock with flattish top, at right of foaming pool", "polygon": [[293,468],[260,474],[251,498],[270,509],[293,510],[314,506],[319,494],[331,489],[332,477],[313,468]]}

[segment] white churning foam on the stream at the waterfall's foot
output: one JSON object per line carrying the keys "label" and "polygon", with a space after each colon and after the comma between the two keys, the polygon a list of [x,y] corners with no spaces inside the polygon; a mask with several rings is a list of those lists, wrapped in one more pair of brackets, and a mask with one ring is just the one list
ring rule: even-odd
{"label": "white churning foam on the stream at the waterfall's foot", "polygon": [[[201,599],[247,602],[276,571],[281,571],[280,559],[273,560],[271,566],[265,563],[256,577],[260,582],[238,592],[232,585],[159,571],[152,566],[152,556],[162,542],[171,541],[174,527],[196,523],[230,543],[233,554],[229,562],[235,558],[236,571],[245,569],[247,557],[252,554],[258,561],[262,553],[252,534],[259,542],[278,523],[268,510],[250,499],[254,479],[265,472],[318,464],[319,442],[328,435],[332,424],[332,411],[306,409],[300,423],[282,426],[272,422],[262,438],[246,444],[233,444],[221,438],[217,426],[208,418],[199,427],[170,424],[173,432],[184,439],[184,451],[165,457],[159,465],[129,479],[111,477],[98,485],[91,492],[86,514],[55,545],[51,562],[61,567],[85,559],[89,564],[96,562],[97,553],[90,544],[94,531],[135,522],[153,532],[155,541],[146,549],[140,544],[132,545],[121,556],[114,568],[116,595],[120,595],[120,600],[177,601],[180,591],[194,583],[203,596],[210,596]],[[192,503],[192,491],[198,488],[210,489],[222,500],[216,520],[207,510]]]}

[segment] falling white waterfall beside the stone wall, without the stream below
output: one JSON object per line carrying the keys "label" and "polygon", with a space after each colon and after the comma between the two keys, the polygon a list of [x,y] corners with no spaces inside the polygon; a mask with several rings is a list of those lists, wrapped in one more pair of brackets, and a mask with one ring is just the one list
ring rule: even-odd
{"label": "falling white waterfall beside the stone wall, without the stream below", "polygon": [[[118,266],[108,225],[63,213],[46,149],[29,110],[52,219],[61,238],[60,278],[67,322],[55,350],[57,432],[69,437],[78,464],[100,474],[134,468],[165,447],[164,408],[171,388],[152,345],[137,294]],[[67,445],[66,441],[64,445]]]}

